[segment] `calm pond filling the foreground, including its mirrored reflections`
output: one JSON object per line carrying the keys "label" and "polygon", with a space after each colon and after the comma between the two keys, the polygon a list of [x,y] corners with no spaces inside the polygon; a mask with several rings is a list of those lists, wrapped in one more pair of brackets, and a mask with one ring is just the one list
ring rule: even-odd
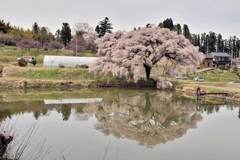
{"label": "calm pond filling the foreground, including its mirrored reflections", "polygon": [[0,100],[1,132],[14,135],[11,151],[33,131],[22,159],[34,151],[39,159],[67,160],[239,157],[240,111],[226,102],[111,88],[8,90]]}

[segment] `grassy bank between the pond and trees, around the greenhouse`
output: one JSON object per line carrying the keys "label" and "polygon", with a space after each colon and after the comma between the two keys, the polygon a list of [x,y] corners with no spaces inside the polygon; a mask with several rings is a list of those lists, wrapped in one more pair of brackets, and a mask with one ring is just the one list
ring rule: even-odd
{"label": "grassy bank between the pond and trees, around the greenhouse", "polygon": [[[23,55],[34,56],[37,65],[34,67],[29,64],[26,67],[17,65],[17,58]],[[117,79],[110,75],[100,76],[89,73],[83,68],[44,68],[44,55],[63,55],[73,56],[74,53],[68,50],[44,51],[44,50],[22,50],[16,47],[6,47],[0,51],[0,77],[1,88],[23,88],[24,84],[29,88],[49,88],[49,87],[155,87],[154,81],[140,81],[128,83],[125,79]],[[81,53],[79,56],[96,56],[91,52]],[[204,77],[204,82],[193,81],[196,76]],[[240,85],[228,84],[230,81],[238,81],[238,76],[229,70],[210,70],[198,73],[198,75],[188,75],[188,80],[171,79],[176,90],[185,93],[195,93],[196,88],[200,87],[204,92],[228,92],[229,97],[239,99]]]}

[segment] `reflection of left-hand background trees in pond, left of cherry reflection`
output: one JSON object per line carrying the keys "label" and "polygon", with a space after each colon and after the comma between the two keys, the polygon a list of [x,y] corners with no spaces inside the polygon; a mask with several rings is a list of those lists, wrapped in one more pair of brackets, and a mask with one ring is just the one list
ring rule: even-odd
{"label": "reflection of left-hand background trees in pond, left of cherry reflection", "polygon": [[83,112],[83,108],[87,104],[44,104],[43,101],[29,102],[8,102],[0,104],[0,122],[12,115],[22,115],[24,113],[32,113],[37,120],[41,116],[49,116],[51,111],[57,111],[62,114],[63,120],[68,120],[72,115],[75,120],[85,121],[91,117],[92,113]]}

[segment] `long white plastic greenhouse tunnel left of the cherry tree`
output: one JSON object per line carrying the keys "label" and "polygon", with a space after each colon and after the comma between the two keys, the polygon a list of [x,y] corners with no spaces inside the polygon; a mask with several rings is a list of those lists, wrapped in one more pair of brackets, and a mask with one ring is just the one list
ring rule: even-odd
{"label": "long white plastic greenhouse tunnel left of the cherry tree", "polygon": [[96,59],[97,57],[44,56],[43,66],[48,68],[58,68],[60,65],[64,67],[89,66]]}

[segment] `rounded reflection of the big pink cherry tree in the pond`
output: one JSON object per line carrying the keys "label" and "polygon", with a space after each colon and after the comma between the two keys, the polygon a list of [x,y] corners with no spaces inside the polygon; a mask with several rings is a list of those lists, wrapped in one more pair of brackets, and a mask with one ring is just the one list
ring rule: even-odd
{"label": "rounded reflection of the big pink cherry tree in the pond", "polygon": [[132,97],[119,93],[118,99],[105,98],[86,108],[98,119],[97,130],[147,147],[180,138],[188,129],[196,128],[202,117],[195,109],[193,100],[162,91]]}

